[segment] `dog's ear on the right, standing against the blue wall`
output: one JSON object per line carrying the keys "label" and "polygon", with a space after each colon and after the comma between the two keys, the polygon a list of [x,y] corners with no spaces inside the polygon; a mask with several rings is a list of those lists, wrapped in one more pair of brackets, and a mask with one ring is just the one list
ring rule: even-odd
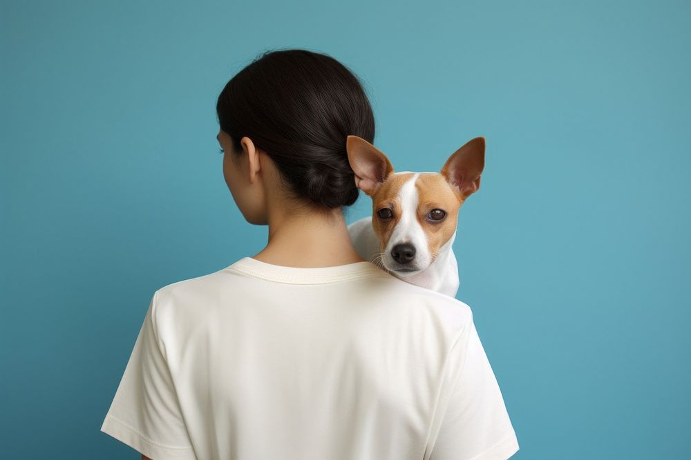
{"label": "dog's ear on the right, standing against the blue wall", "polygon": [[483,168],[484,137],[475,137],[448,157],[441,174],[451,185],[459,201],[464,201],[480,188]]}

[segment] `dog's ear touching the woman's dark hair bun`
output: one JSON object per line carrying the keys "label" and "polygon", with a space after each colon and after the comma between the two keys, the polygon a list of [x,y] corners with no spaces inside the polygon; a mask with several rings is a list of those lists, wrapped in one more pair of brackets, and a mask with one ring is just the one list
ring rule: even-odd
{"label": "dog's ear touching the woman's dark hair bun", "polygon": [[345,150],[355,173],[355,186],[371,197],[379,184],[393,173],[391,162],[381,150],[361,137],[348,136]]}

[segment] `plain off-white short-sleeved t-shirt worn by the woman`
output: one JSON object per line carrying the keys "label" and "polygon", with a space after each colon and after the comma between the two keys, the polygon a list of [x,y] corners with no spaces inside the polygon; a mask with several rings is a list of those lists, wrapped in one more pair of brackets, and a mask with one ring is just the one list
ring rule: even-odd
{"label": "plain off-white short-sleeved t-shirt worn by the woman", "polygon": [[470,307],[370,262],[244,257],[160,288],[101,431],[153,460],[518,450]]}

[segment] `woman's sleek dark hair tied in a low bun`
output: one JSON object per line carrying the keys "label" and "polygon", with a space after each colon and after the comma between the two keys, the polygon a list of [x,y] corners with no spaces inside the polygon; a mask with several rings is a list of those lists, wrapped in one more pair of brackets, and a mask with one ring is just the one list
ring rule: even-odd
{"label": "woman's sleek dark hair tied in a low bun", "polygon": [[220,129],[241,152],[249,137],[276,163],[287,190],[327,208],[357,201],[345,140],[374,143],[375,117],[359,78],[309,50],[265,51],[218,95]]}

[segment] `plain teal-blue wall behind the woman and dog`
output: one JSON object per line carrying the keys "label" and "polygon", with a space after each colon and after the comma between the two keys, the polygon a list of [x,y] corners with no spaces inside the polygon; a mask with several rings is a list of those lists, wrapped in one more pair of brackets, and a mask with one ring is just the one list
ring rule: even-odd
{"label": "plain teal-blue wall behind the woman and dog", "polygon": [[486,137],[457,297],[514,458],[688,456],[691,3],[97,3],[1,6],[3,457],[138,458],[100,425],[153,292],[266,243],[215,102],[274,48],[357,73],[397,170]]}

